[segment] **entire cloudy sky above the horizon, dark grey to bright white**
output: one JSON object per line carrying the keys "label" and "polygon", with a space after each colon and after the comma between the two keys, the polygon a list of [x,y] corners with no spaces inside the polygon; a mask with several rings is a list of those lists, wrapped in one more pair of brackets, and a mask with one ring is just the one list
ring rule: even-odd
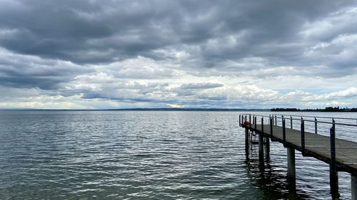
{"label": "entire cloudy sky above the horizon, dark grey to bright white", "polygon": [[357,107],[357,1],[0,5],[0,108]]}

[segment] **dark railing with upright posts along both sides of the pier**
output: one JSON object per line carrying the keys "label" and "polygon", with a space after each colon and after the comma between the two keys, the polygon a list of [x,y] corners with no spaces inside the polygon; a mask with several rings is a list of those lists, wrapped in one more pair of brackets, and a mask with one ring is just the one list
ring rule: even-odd
{"label": "dark railing with upright posts along both sides of the pier", "polygon": [[[323,120],[321,120],[323,119]],[[357,142],[357,119],[348,117],[315,117],[301,115],[239,115],[239,125],[256,129],[256,125],[270,125],[270,135],[273,137],[273,126],[280,126],[283,132],[283,145],[286,147],[286,128],[300,131],[301,153],[306,155],[305,133],[315,133],[330,137],[331,166],[336,167],[336,136],[338,139]],[[327,121],[330,120],[330,121]],[[336,122],[343,120],[345,122]],[[263,127],[263,126],[262,126]],[[262,130],[263,132],[263,130]],[[337,133],[337,135],[336,135]]]}

